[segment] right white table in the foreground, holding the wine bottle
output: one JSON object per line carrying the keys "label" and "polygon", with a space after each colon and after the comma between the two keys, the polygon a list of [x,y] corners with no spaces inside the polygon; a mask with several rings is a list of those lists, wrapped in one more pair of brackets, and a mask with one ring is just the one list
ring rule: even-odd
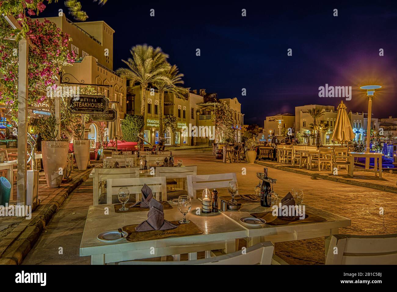
{"label": "right white table in the foreground, holding the wine bottle", "polygon": [[222,214],[241,225],[241,227],[247,229],[247,247],[263,241],[271,241],[275,243],[324,237],[326,254],[330,244],[331,235],[338,234],[339,228],[351,225],[351,220],[349,218],[335,215],[308,205],[305,205],[306,213],[318,215],[327,219],[327,221],[285,225],[263,224],[259,226],[248,225],[240,221],[242,217],[252,217],[252,215],[250,215],[251,213],[266,211],[271,211],[271,208],[261,207],[259,206],[259,203],[245,203],[241,205],[241,209],[239,211],[222,211]]}

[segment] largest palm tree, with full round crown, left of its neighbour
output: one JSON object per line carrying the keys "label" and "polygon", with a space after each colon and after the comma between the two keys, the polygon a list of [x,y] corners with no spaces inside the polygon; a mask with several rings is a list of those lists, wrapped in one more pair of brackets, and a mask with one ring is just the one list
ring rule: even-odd
{"label": "largest palm tree, with full round crown, left of its neighbour", "polygon": [[127,61],[121,60],[128,65],[129,68],[119,68],[117,73],[120,77],[127,77],[130,81],[129,85],[133,86],[139,82],[143,89],[141,98],[141,115],[145,118],[146,108],[146,88],[149,83],[158,81],[169,82],[165,72],[170,68],[170,64],[166,61],[167,54],[164,54],[161,48],[154,49],[152,46],[137,45],[131,50],[132,58]]}

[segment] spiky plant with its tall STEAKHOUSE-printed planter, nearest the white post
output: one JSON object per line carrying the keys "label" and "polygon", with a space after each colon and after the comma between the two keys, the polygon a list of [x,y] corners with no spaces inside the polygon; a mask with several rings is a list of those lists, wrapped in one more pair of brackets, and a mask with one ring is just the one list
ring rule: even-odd
{"label": "spiky plant with its tall STEAKHOUSE-printed planter, nearest the white post", "polygon": [[40,129],[42,137],[44,174],[49,188],[58,188],[61,185],[69,150],[69,141],[57,139],[57,126],[58,123],[54,115],[50,115],[46,119],[41,118],[38,122],[38,129]]}

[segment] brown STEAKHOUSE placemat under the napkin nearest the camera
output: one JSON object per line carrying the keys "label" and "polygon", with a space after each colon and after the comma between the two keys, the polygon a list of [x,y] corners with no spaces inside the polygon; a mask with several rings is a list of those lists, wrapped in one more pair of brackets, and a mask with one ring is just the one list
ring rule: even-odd
{"label": "brown STEAKHOUSE placemat under the napkin nearest the camera", "polygon": [[168,230],[149,230],[136,231],[135,227],[139,224],[123,226],[123,230],[128,233],[127,240],[131,242],[153,240],[167,238],[171,236],[187,236],[201,234],[203,231],[192,221],[187,224],[180,224],[178,221],[170,221],[172,224],[178,225],[177,228]]}

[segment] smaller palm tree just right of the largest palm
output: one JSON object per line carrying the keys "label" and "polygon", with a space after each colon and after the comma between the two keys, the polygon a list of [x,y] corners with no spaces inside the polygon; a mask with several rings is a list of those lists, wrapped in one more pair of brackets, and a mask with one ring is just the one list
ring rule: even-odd
{"label": "smaller palm tree just right of the largest palm", "polygon": [[159,130],[161,137],[164,134],[163,131],[163,104],[162,104],[162,96],[165,91],[175,94],[176,96],[182,96],[185,88],[181,88],[177,86],[177,84],[183,84],[182,77],[184,76],[182,73],[179,73],[178,67],[173,65],[167,71],[164,72],[165,76],[168,77],[169,81],[158,80],[153,83],[158,90],[159,102],[158,102],[158,119],[159,119]]}

